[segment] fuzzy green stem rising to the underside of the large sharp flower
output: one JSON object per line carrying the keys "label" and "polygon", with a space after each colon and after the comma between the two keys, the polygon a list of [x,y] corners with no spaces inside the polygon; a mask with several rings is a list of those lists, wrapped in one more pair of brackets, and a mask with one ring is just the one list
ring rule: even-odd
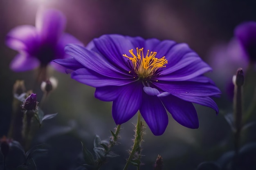
{"label": "fuzzy green stem rising to the underside of the large sharp flower", "polygon": [[[137,151],[138,147],[140,147],[140,141],[141,141],[141,121],[140,121],[140,113],[138,113],[138,121],[137,121],[137,127],[136,127],[136,131],[135,131],[135,140],[134,140],[134,144],[132,146],[132,151],[130,153],[130,156],[126,162],[126,165],[124,166],[123,170],[127,170],[135,152]],[[137,170],[139,166],[137,166]]]}

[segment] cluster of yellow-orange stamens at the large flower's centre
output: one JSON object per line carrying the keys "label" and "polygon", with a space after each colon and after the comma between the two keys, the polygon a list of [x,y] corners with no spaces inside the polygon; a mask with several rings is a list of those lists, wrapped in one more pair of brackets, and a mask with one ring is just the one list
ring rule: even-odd
{"label": "cluster of yellow-orange stamens at the large flower's centre", "polygon": [[[159,68],[166,67],[165,64],[168,63],[165,56],[156,58],[157,52],[149,52],[148,50],[146,56],[144,56],[143,48],[136,48],[136,50],[137,55],[133,53],[133,49],[130,49],[129,52],[132,57],[126,54],[123,54],[123,56],[129,58],[132,62],[132,68],[140,79],[150,79]],[[131,71],[129,71],[129,73],[131,73]]]}

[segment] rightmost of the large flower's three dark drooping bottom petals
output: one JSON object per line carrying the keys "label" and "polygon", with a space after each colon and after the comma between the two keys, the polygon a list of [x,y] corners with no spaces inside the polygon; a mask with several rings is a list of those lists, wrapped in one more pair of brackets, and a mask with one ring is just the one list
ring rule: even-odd
{"label": "rightmost of the large flower's three dark drooping bottom petals", "polygon": [[161,97],[165,108],[179,124],[187,128],[198,128],[199,121],[195,107],[191,102],[186,102],[173,95]]}

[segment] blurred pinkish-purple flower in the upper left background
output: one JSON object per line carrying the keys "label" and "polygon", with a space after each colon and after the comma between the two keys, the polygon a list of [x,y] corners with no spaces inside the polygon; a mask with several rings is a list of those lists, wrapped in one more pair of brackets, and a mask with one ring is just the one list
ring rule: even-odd
{"label": "blurred pinkish-purple flower in the upper left background", "polygon": [[27,71],[38,66],[46,67],[51,60],[67,57],[64,51],[66,44],[82,45],[72,35],[63,33],[65,24],[63,13],[47,9],[37,13],[35,27],[22,25],[12,29],[7,34],[6,43],[19,54],[12,60],[11,69]]}

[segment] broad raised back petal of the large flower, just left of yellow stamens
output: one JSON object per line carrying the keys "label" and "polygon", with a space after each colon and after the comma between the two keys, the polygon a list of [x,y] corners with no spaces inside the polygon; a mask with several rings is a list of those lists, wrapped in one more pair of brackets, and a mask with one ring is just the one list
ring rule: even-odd
{"label": "broad raised back petal of the large flower, just left of yellow stamens", "polygon": [[93,40],[96,48],[99,52],[106,57],[106,59],[123,71],[129,71],[126,62],[128,59],[123,56],[125,53],[129,53],[130,49],[135,49],[126,37],[122,35],[102,35],[100,38]]}

